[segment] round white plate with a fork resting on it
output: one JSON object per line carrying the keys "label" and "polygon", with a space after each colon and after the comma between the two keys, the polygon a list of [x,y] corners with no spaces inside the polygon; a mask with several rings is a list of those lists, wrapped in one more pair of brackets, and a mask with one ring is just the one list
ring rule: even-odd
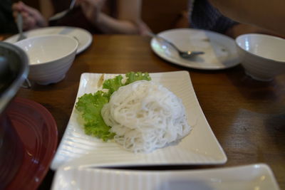
{"label": "round white plate with a fork resting on it", "polygon": [[167,43],[152,38],[150,42],[152,51],[170,63],[202,70],[220,70],[239,64],[234,40],[220,33],[179,28],[163,31],[157,35],[171,41],[182,51],[204,51],[203,55],[189,60],[181,58],[177,51]]}

